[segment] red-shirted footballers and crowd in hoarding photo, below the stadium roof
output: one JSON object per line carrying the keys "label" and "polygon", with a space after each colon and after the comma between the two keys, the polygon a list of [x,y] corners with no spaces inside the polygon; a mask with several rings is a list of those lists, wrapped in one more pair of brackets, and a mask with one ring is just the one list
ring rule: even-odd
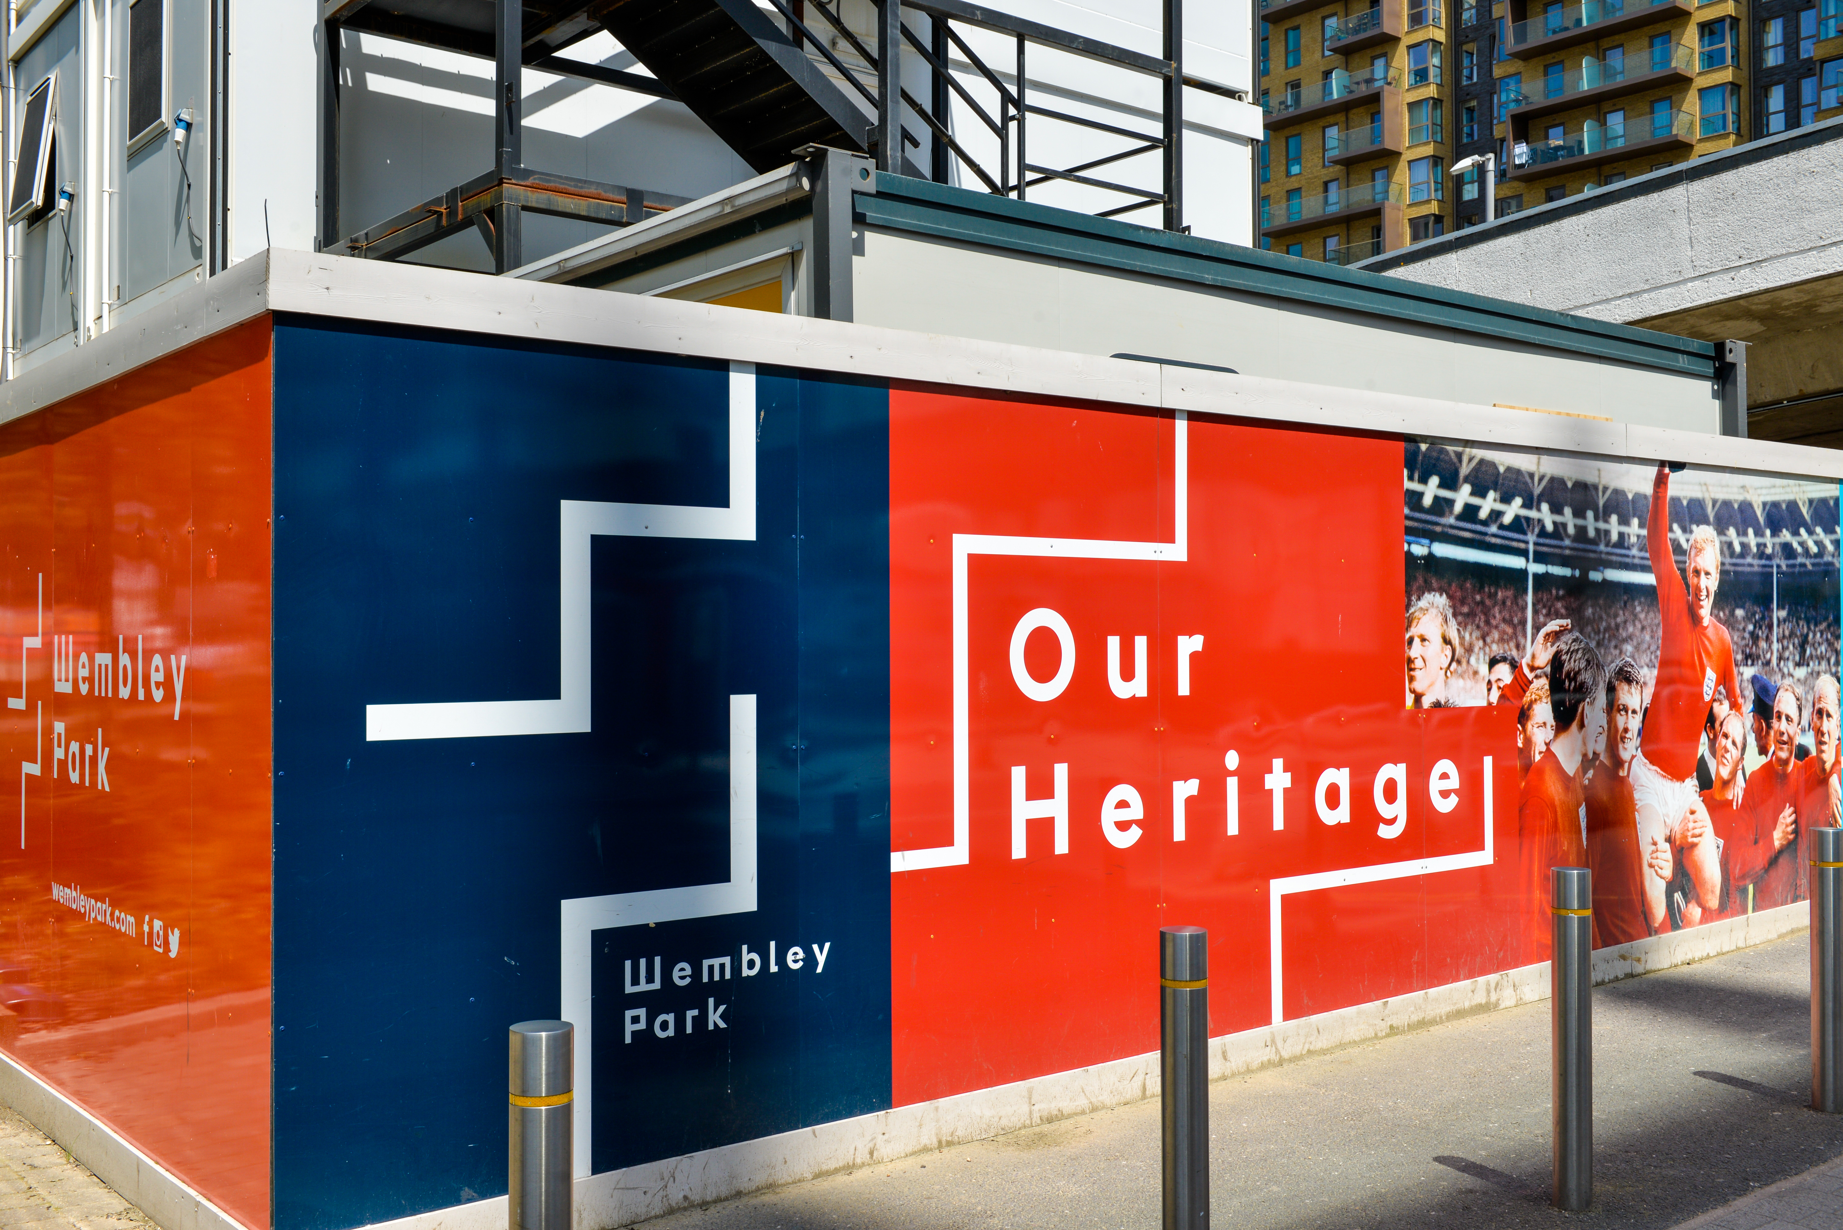
{"label": "red-shirted footballers and crowd in hoarding photo, below the stadium roof", "polygon": [[[1649,506],[1672,506],[1672,473]],[[1618,945],[1804,900],[1808,832],[1843,819],[1836,565],[1729,569],[1723,587],[1714,527],[1642,534],[1655,586],[1410,565],[1408,705],[1517,707],[1533,959],[1550,867],[1592,869],[1594,941]]]}

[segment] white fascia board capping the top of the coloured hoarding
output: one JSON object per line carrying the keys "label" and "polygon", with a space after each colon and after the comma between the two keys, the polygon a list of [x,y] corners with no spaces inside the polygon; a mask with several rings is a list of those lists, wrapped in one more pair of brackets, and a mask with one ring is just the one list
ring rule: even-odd
{"label": "white fascia board capping the top of the coloured hoarding", "polygon": [[63,361],[0,385],[0,422],[118,379],[262,311],[1157,407],[1303,429],[1336,427],[1502,449],[1683,460],[1738,473],[1843,479],[1839,449],[286,250],[232,265],[133,324],[79,346]]}

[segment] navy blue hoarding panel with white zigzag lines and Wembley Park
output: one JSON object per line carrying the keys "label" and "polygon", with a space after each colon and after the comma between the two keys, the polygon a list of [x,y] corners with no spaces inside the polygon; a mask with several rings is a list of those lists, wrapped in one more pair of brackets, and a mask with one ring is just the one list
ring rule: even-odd
{"label": "navy blue hoarding panel with white zigzag lines and Wembley Park", "polygon": [[888,1107],[886,405],[278,320],[278,1230],[503,1193],[514,1020],[595,1171]]}

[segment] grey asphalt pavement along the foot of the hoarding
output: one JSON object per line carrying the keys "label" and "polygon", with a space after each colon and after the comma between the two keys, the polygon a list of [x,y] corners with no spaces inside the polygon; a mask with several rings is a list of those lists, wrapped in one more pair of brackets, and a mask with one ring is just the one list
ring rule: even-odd
{"label": "grey asphalt pavement along the foot of the hoarding", "polygon": [[[1804,935],[1598,987],[1587,1213],[1548,1206],[1546,1002],[1218,1081],[1211,1219],[1274,1230],[1675,1226],[1843,1156],[1843,1116],[1804,1107],[1808,996]],[[1756,1221],[1747,1213],[1736,1224]],[[1154,1228],[1159,1107],[1063,1120],[645,1224]],[[1823,1224],[1843,1226],[1843,1197],[1837,1219]]]}

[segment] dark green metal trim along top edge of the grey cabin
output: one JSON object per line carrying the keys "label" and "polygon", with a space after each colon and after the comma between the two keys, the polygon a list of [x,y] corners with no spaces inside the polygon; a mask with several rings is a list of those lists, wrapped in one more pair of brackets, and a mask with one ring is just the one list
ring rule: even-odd
{"label": "dark green metal trim along top edge of the grey cabin", "polygon": [[875,182],[875,195],[855,197],[857,214],[872,226],[1500,337],[1683,376],[1714,379],[1716,372],[1714,342],[1694,337],[1589,320],[885,171]]}

